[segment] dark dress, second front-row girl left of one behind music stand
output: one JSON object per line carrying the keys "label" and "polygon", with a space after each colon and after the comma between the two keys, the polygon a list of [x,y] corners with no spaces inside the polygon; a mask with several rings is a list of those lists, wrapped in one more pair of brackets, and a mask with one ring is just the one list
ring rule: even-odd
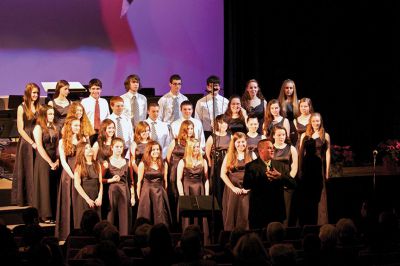
{"label": "dark dress, second front-row girl left of one behind music stand", "polygon": [[118,168],[108,162],[108,178],[114,175],[120,176],[120,181],[111,183],[108,190],[110,200],[110,210],[107,215],[107,221],[114,224],[115,216],[118,213],[118,230],[120,235],[128,235],[132,222],[131,192],[129,190],[129,163],[126,162],[121,168]]}

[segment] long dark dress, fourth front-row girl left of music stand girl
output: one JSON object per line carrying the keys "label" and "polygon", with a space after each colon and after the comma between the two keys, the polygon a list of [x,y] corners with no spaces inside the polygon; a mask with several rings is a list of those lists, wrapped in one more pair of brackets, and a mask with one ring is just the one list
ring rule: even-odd
{"label": "long dark dress, fourth front-row girl left of music stand girl", "polygon": [[[72,172],[75,171],[76,161],[76,145],[74,145],[74,153],[67,156],[66,160]],[[57,214],[55,236],[58,240],[66,240],[71,229],[74,228],[74,221],[77,220],[73,211],[76,206],[78,192],[74,187],[74,180],[63,169],[61,173],[60,185],[58,189]]]}

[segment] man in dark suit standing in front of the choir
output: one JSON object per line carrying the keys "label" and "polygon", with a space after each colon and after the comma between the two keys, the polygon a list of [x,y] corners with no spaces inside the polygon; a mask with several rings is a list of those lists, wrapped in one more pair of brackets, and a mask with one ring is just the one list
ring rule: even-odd
{"label": "man in dark suit standing in front of the choir", "polygon": [[271,140],[260,140],[257,149],[259,157],[246,164],[243,180],[243,188],[250,189],[251,229],[265,228],[270,222],[283,222],[286,218],[283,187],[296,186],[284,165],[274,160]]}

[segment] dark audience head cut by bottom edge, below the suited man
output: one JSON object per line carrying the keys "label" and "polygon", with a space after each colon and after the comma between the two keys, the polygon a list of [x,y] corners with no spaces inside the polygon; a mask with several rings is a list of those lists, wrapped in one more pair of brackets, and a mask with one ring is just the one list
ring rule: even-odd
{"label": "dark audience head cut by bottom edge, below the suited man", "polygon": [[269,249],[273,266],[295,266],[296,250],[290,244],[275,244]]}

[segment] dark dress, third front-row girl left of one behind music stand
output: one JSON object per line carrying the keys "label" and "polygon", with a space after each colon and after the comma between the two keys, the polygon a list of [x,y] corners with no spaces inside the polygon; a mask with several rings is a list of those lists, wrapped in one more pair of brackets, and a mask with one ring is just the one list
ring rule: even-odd
{"label": "dark dress, third front-row girl left of one behind music stand", "polygon": [[[88,170],[87,176],[81,176],[81,186],[88,195],[88,197],[92,200],[97,199],[100,189],[99,174],[96,173],[95,167],[98,167],[98,165],[97,164],[87,165],[87,170]],[[78,220],[74,222],[75,229],[80,228],[83,213],[86,210],[91,209],[87,204],[86,200],[79,193],[77,194],[78,198],[76,200],[76,208],[74,209],[76,215],[74,216],[78,217]],[[95,210],[99,215],[99,218],[101,218],[101,208],[95,206],[92,209]]]}

